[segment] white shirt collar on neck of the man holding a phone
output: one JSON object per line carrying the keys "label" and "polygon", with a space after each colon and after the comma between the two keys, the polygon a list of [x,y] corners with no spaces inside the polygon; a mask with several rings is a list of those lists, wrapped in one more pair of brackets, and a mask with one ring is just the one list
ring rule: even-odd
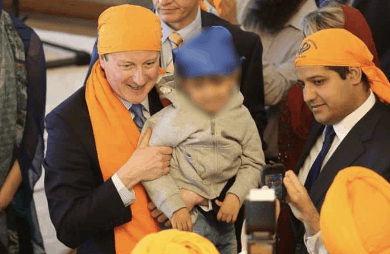
{"label": "white shirt collar on neck of the man holding a phone", "polygon": [[353,111],[351,114],[347,115],[343,120],[341,120],[339,123],[333,125],[333,129],[336,132],[337,138],[343,140],[349,131],[360,121],[360,119],[367,114],[368,111],[374,106],[375,104],[375,95],[370,89],[370,95],[368,99],[355,111]]}

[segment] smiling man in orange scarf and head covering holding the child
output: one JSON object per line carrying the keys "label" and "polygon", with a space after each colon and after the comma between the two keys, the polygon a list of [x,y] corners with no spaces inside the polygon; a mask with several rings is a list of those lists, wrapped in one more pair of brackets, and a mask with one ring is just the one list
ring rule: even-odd
{"label": "smiling man in orange scarf and head covering holding the child", "polygon": [[[99,61],[86,86],[46,117],[44,168],[58,239],[78,254],[128,254],[160,230],[140,183],[169,171],[172,148],[149,147],[146,118],[162,108],[156,90],[160,19],[137,5],[99,17]],[[137,24],[137,25],[135,25]]]}

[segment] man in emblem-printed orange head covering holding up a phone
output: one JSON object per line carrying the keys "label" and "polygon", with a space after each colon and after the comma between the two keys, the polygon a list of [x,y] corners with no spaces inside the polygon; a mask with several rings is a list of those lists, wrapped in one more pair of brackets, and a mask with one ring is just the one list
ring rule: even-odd
{"label": "man in emblem-printed orange head covering holding up a phone", "polygon": [[390,99],[390,83],[372,59],[364,42],[344,29],[308,36],[296,56],[315,118],[294,172],[284,178],[297,254],[310,252],[319,238],[319,212],[340,169],[364,166],[390,180],[390,109],[381,102]]}

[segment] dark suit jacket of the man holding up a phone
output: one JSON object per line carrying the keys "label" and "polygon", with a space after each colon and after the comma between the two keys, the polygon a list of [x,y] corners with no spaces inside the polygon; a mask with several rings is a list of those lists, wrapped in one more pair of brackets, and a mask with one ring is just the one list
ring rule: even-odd
{"label": "dark suit jacket of the man holding up a phone", "polygon": [[[313,122],[306,144],[294,169],[298,175],[317,138],[323,133],[324,125]],[[337,147],[325,164],[309,196],[318,212],[324,202],[325,194],[337,173],[348,166],[363,166],[370,168],[390,182],[390,109],[378,101],[363,118],[356,123],[348,135]],[[307,254],[303,243],[305,228],[290,211],[294,231],[295,253]]]}

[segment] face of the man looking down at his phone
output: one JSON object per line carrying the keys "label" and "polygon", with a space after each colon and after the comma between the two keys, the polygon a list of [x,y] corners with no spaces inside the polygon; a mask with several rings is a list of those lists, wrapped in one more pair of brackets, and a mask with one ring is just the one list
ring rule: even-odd
{"label": "face of the man looking down at his phone", "polygon": [[303,87],[303,99],[313,112],[316,121],[325,125],[339,123],[355,111],[358,105],[356,84],[347,74],[340,75],[324,66],[299,66],[298,83]]}

